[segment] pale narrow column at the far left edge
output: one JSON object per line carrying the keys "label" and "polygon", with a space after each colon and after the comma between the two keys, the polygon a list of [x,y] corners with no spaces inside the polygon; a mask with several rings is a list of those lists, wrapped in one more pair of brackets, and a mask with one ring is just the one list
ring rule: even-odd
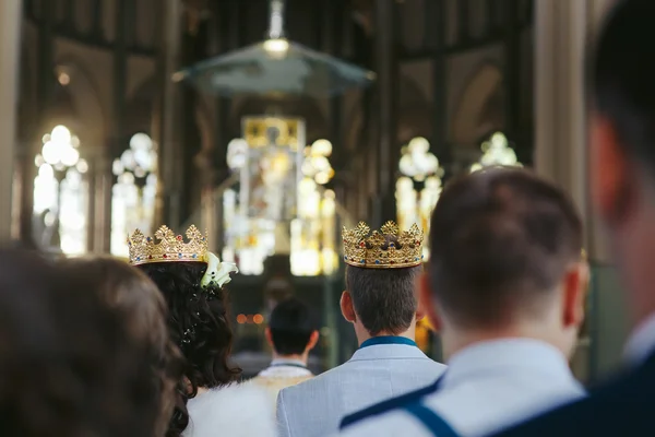
{"label": "pale narrow column at the far left edge", "polygon": [[[21,0],[0,1],[0,241],[12,235],[12,182],[21,51]],[[15,228],[15,227],[14,227]]]}

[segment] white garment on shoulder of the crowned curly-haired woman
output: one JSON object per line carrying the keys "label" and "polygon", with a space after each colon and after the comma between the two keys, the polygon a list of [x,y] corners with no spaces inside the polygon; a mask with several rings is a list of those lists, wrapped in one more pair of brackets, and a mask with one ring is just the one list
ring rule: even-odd
{"label": "white garment on shoulder of the crowned curly-haired woman", "polygon": [[199,393],[187,403],[184,437],[275,437],[275,411],[266,391],[231,385]]}

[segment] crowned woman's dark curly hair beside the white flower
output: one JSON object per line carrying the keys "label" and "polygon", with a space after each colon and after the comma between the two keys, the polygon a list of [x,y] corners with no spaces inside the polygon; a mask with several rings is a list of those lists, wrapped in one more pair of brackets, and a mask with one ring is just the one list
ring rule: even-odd
{"label": "crowned woman's dark curly hair beside the white flower", "polygon": [[167,436],[179,436],[189,425],[187,401],[199,388],[215,388],[237,380],[241,369],[229,364],[233,347],[227,292],[217,284],[202,287],[204,262],[162,262],[139,267],[157,284],[168,304],[171,340],[184,356],[180,399]]}

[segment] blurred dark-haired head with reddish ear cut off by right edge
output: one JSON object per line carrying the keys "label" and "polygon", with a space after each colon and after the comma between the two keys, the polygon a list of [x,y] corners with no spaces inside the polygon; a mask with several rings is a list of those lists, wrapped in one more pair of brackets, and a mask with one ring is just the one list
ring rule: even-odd
{"label": "blurred dark-haired head with reddish ear cut off by right edge", "polygon": [[616,3],[590,59],[590,182],[640,321],[655,311],[655,2]]}

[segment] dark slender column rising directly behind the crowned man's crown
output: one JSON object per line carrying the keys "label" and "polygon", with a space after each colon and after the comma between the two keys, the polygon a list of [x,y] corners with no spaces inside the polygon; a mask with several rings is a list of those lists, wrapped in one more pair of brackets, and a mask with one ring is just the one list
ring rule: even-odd
{"label": "dark slender column rising directly behind the crowned man's crown", "polygon": [[371,225],[381,226],[395,218],[395,176],[400,157],[397,144],[397,11],[395,0],[377,0],[374,3],[373,62],[378,75],[376,107],[373,108],[377,132],[371,132],[371,146],[377,150],[376,196],[372,204]]}

